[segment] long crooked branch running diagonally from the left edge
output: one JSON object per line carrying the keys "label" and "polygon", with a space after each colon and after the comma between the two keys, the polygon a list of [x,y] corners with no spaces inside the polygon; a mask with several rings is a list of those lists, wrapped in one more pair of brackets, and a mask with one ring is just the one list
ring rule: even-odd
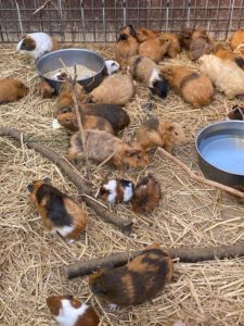
{"label": "long crooked branch running diagonally from the left edge", "polygon": [[[28,142],[28,138],[24,137],[16,129],[10,128],[0,128],[0,136],[10,136],[20,142],[23,141],[27,145],[28,148],[36,150],[44,158],[48,158],[54,164],[56,164],[66,175],[67,177],[75,184],[80,195],[90,195],[91,196],[91,188],[85,183],[85,180],[80,177],[80,175],[76,172],[75,168],[72,167],[70,163],[67,163],[63,158],[56,154],[53,150],[50,150],[43,145],[39,145],[37,142]],[[120,228],[120,230],[125,235],[129,235],[132,230],[132,218],[125,220],[118,215],[112,214],[108,210],[104,209],[102,205],[93,201],[87,196],[82,196],[84,201],[90,208],[92,208],[101,218],[110,224],[113,224]]]}

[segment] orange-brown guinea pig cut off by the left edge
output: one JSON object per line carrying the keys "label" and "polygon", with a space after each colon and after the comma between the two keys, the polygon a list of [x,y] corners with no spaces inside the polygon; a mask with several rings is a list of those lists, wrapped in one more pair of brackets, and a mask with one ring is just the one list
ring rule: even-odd
{"label": "orange-brown guinea pig cut off by the left edge", "polygon": [[5,102],[15,102],[25,97],[29,89],[24,83],[16,79],[0,80],[0,104]]}

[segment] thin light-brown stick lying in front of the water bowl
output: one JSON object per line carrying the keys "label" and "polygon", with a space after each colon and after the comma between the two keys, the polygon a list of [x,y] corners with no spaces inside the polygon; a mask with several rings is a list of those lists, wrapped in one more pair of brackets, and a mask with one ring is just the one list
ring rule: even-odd
{"label": "thin light-brown stick lying in front of the water bowl", "polygon": [[174,163],[178,164],[180,167],[182,167],[188,174],[189,176],[197,181],[197,183],[202,183],[202,184],[205,184],[205,185],[208,185],[208,186],[211,186],[211,187],[215,187],[215,188],[218,188],[220,190],[223,190],[223,191],[227,191],[233,196],[237,196],[242,199],[244,199],[244,192],[242,191],[239,191],[239,190],[235,190],[231,187],[228,187],[228,186],[224,186],[222,184],[219,184],[219,183],[216,183],[216,181],[213,181],[213,180],[209,180],[209,179],[205,179],[203,177],[200,177],[197,176],[196,174],[194,174],[194,172],[192,172],[184,163],[182,163],[180,160],[178,160],[176,156],[172,156],[169,152],[167,152],[165,149],[163,148],[157,148],[157,150],[159,151],[160,154],[163,154],[164,156],[170,159]]}

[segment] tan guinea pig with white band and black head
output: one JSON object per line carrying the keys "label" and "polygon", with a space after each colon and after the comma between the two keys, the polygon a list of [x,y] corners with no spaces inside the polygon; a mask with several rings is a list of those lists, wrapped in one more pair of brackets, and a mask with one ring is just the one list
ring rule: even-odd
{"label": "tan guinea pig with white band and black head", "polygon": [[152,93],[160,98],[166,98],[168,83],[167,79],[160,75],[155,62],[143,55],[134,55],[129,59],[128,64],[132,78],[145,83]]}

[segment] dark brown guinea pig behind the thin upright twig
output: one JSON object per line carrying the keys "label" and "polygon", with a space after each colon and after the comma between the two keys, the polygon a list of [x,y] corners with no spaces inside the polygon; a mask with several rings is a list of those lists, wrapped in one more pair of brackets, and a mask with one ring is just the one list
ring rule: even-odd
{"label": "dark brown guinea pig behind the thin upright twig", "polygon": [[[98,115],[104,117],[112,125],[115,135],[125,129],[130,123],[130,117],[127,112],[115,104],[80,103],[79,111],[86,115]],[[67,112],[75,112],[74,106],[68,105],[59,108],[55,112],[55,116]]]}

